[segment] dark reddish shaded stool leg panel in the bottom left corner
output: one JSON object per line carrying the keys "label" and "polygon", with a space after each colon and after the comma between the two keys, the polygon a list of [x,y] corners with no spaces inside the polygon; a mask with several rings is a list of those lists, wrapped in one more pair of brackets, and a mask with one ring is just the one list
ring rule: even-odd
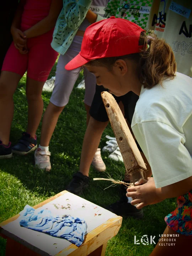
{"label": "dark reddish shaded stool leg panel in the bottom left corner", "polygon": [[16,242],[11,238],[7,238],[5,256],[22,255],[22,256],[41,256],[36,252],[28,249],[24,245]]}

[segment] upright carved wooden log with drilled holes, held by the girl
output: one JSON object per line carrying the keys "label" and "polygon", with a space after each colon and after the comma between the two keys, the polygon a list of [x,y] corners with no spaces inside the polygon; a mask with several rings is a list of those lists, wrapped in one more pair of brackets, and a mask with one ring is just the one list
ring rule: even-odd
{"label": "upright carved wooden log with drilled holes, held by the girl", "polygon": [[142,155],[133,139],[127,122],[112,94],[101,93],[108,118],[111,123],[114,135],[117,139],[127,173],[132,177],[133,183],[143,177],[143,169],[146,170]]}

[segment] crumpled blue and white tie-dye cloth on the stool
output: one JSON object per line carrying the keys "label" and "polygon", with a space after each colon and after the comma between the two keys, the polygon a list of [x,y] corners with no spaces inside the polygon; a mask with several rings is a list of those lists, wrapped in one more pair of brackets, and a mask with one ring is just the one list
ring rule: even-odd
{"label": "crumpled blue and white tie-dye cloth on the stool", "polygon": [[20,212],[19,223],[29,229],[64,238],[76,246],[84,241],[87,224],[85,220],[69,215],[54,216],[50,210],[33,209],[26,205]]}

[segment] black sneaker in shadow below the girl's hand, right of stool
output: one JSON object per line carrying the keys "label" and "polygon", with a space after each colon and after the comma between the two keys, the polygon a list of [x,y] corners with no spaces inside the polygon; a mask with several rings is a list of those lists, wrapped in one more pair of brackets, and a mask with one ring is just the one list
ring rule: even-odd
{"label": "black sneaker in shadow below the girl's hand, right of stool", "polygon": [[135,219],[143,218],[143,209],[137,209],[135,206],[127,202],[126,196],[122,196],[116,203],[110,204],[106,207],[110,212],[122,216],[122,217],[133,217]]}

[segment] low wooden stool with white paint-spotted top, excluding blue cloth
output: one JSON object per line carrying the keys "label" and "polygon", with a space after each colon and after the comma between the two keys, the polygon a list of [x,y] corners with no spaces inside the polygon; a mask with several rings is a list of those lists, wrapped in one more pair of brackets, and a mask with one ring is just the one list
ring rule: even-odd
{"label": "low wooden stool with white paint-spotted top, excluding blue cloth", "polygon": [[122,224],[122,217],[68,191],[62,191],[33,208],[40,207],[59,216],[69,214],[85,219],[87,234],[83,244],[77,247],[63,238],[21,227],[17,220],[20,215],[17,214],[0,224],[0,235],[7,238],[6,256],[104,256],[107,241],[117,235]]}

